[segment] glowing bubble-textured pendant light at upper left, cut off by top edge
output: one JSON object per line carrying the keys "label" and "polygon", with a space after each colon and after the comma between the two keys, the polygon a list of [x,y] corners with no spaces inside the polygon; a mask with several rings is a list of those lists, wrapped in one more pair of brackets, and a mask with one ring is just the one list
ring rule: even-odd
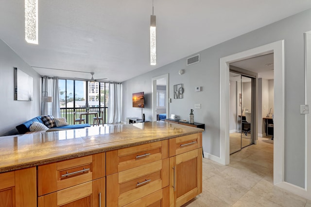
{"label": "glowing bubble-textured pendant light at upper left, cut off by top edge", "polygon": [[38,44],[38,0],[25,0],[25,39]]}

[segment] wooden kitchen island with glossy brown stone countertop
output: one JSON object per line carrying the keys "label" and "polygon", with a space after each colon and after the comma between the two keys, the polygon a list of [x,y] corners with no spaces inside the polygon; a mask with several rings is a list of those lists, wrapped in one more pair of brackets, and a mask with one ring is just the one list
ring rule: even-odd
{"label": "wooden kitchen island with glossy brown stone countertop", "polygon": [[0,179],[14,181],[0,202],[181,206],[202,192],[202,131],[154,121],[0,137]]}

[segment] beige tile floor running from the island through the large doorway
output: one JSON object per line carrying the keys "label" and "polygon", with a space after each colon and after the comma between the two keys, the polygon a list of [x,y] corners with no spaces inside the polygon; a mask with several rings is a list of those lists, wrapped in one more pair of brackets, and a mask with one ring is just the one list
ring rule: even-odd
{"label": "beige tile floor running from the island through the large doorway", "polygon": [[307,200],[273,186],[273,141],[230,155],[230,164],[203,158],[203,192],[183,207],[311,207]]}

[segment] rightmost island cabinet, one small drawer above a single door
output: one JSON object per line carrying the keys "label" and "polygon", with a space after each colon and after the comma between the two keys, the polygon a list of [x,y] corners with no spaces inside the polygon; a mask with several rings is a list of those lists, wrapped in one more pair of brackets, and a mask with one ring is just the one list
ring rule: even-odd
{"label": "rightmost island cabinet, one small drawer above a single door", "polygon": [[170,139],[170,207],[202,192],[202,133]]}

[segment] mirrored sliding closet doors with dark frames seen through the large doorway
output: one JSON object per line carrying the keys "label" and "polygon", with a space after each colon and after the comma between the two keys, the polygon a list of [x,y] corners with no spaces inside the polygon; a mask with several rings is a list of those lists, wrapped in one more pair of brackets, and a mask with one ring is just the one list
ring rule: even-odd
{"label": "mirrored sliding closet doors with dark frames seen through the large doorway", "polygon": [[[230,66],[231,67],[231,66]],[[255,143],[256,128],[256,74],[247,76],[238,68],[230,69],[229,139],[230,155]],[[242,70],[241,70],[242,71]]]}

